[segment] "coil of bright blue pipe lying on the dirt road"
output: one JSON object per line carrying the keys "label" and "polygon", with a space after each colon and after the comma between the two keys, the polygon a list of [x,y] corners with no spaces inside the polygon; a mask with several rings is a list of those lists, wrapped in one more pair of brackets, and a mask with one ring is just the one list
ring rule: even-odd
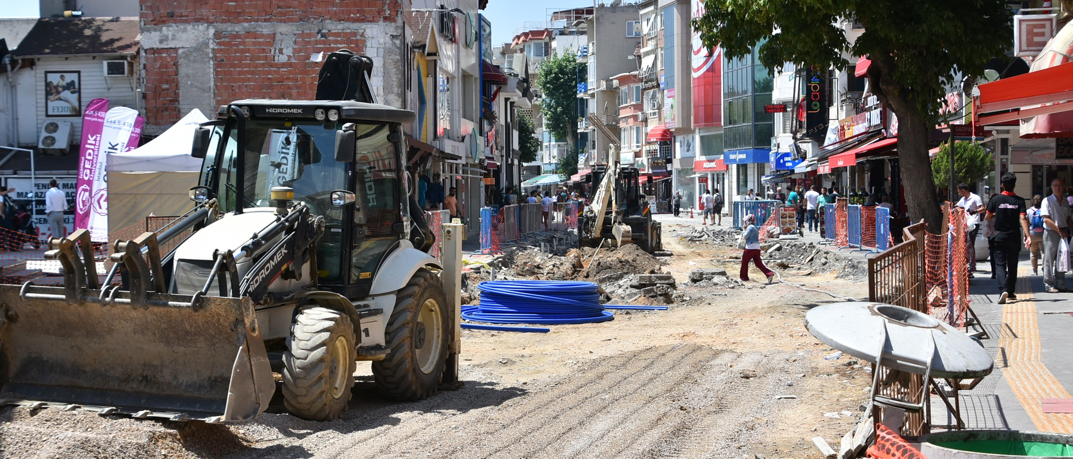
{"label": "coil of bright blue pipe lying on the dirt road", "polygon": [[597,284],[577,281],[485,281],[480,306],[462,319],[490,324],[591,324],[615,319],[600,305]]}

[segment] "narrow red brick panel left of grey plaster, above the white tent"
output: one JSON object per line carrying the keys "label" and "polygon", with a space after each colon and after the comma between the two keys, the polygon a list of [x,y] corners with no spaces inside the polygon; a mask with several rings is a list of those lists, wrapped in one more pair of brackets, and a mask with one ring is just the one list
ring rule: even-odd
{"label": "narrow red brick panel left of grey plaster, above the white tent", "polygon": [[[166,124],[178,121],[179,74],[177,48],[145,50],[145,106],[146,122]],[[148,108],[153,109],[149,110]]]}

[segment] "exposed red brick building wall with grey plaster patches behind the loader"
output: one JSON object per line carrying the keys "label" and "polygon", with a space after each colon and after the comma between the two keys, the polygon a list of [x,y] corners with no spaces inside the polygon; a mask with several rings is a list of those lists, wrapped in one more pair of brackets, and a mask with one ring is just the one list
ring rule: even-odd
{"label": "exposed red brick building wall with grey plaster patches behind the loader", "polygon": [[410,0],[142,0],[146,133],[229,101],[312,99],[320,53],[370,56],[378,102],[403,106]]}

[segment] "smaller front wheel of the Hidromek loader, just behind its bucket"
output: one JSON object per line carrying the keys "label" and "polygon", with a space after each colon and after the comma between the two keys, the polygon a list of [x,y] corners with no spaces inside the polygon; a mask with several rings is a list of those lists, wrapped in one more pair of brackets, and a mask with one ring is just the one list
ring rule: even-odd
{"label": "smaller front wheel of the Hidromek loader, just behind its bucket", "polygon": [[306,308],[291,326],[283,353],[283,404],[303,419],[342,416],[354,387],[354,325],[346,314]]}

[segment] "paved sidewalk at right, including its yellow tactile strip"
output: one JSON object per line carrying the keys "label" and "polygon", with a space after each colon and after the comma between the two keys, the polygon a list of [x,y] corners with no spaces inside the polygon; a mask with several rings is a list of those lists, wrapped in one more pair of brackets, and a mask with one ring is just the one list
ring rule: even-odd
{"label": "paved sidewalk at right, including its yellow tactile strip", "polygon": [[[1073,433],[1073,414],[1044,413],[1043,399],[1073,398],[1073,330],[1071,295],[1043,292],[1042,269],[1032,276],[1028,252],[1018,264],[1017,299],[997,305],[998,284],[990,264],[981,262],[969,282],[970,306],[989,337],[984,346],[995,358],[995,371],[972,390],[960,393],[961,417],[970,429],[1040,430]],[[934,424],[953,424],[938,397],[932,398]]]}

